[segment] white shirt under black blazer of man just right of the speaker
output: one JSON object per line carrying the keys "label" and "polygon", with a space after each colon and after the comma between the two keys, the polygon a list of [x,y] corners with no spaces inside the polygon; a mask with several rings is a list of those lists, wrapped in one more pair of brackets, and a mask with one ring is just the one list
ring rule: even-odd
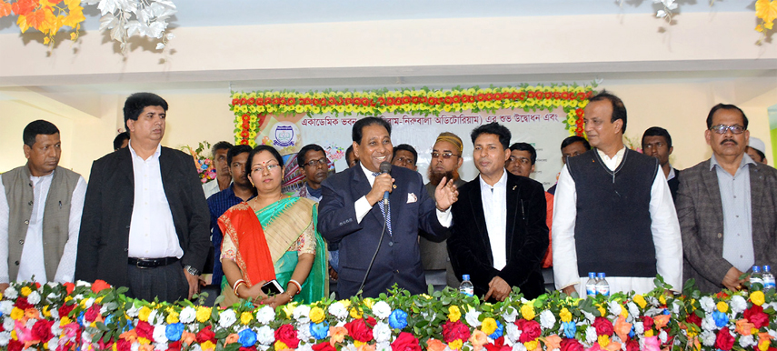
{"label": "white shirt under black blazer of man just right of the speaker", "polygon": [[478,179],[493,268],[502,270],[507,266],[507,171],[503,169],[502,177],[493,186],[489,186],[483,176],[478,176]]}

